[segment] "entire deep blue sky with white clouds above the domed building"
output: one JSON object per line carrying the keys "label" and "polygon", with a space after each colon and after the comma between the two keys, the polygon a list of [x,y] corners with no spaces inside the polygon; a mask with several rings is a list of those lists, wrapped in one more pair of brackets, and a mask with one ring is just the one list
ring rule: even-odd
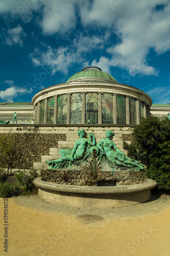
{"label": "entire deep blue sky with white clouds above the domed building", "polygon": [[97,66],[170,103],[170,0],[1,0],[0,102]]}

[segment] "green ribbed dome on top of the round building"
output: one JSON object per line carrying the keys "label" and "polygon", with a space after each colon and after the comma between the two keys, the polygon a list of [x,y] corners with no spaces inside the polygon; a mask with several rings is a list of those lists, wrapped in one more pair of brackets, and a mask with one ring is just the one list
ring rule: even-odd
{"label": "green ribbed dome on top of the round building", "polygon": [[116,79],[98,67],[86,67],[82,71],[71,76],[66,82],[79,78],[102,78],[117,82]]}

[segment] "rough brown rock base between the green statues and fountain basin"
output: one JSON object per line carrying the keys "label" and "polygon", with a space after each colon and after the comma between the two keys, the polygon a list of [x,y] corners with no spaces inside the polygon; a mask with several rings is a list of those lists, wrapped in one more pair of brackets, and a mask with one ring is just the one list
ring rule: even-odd
{"label": "rough brown rock base between the green statues and fountain basin", "polygon": [[[44,181],[64,185],[78,186],[124,186],[144,182],[148,178],[142,171],[117,170],[114,172],[102,170],[44,170],[41,175]],[[115,185],[114,185],[115,184]]]}

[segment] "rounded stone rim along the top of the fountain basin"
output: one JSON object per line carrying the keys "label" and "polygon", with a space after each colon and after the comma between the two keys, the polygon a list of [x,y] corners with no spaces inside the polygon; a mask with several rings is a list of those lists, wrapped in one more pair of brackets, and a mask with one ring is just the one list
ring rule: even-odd
{"label": "rounded stone rim along the top of the fountain basin", "polygon": [[144,179],[144,183],[126,186],[77,186],[77,185],[61,185],[42,180],[43,177],[37,177],[33,181],[34,185],[53,191],[62,193],[76,193],[76,194],[129,194],[139,191],[149,190],[156,187],[157,183],[152,179]]}

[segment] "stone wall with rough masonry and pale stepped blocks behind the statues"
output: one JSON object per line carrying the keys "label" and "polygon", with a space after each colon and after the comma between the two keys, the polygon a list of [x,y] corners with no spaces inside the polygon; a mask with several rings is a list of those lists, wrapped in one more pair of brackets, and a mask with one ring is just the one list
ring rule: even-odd
{"label": "stone wall with rough masonry and pale stepped blocks behind the statues", "polygon": [[59,150],[61,148],[73,148],[75,141],[79,138],[77,132],[79,129],[85,129],[87,138],[92,133],[98,143],[105,138],[106,130],[111,130],[115,133],[112,138],[117,148],[119,148],[125,155],[126,151],[123,149],[123,140],[131,143],[133,140],[133,127],[130,125],[120,126],[80,126],[80,125],[0,125],[0,137],[12,137],[15,141],[15,148],[12,150],[11,161],[9,167],[11,168],[25,168],[32,167],[41,170],[46,169],[48,165],[46,160],[60,158]]}

